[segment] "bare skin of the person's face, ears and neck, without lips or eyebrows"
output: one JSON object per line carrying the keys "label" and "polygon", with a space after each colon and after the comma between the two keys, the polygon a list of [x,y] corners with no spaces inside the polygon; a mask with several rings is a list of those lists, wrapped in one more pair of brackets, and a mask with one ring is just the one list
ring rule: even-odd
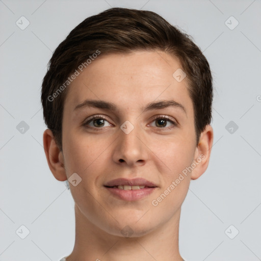
{"label": "bare skin of the person's face, ears and neck, without lips or eyebrows", "polygon": [[[186,77],[177,82],[172,76],[180,67],[178,60],[163,51],[110,54],[95,59],[68,87],[62,151],[49,129],[43,134],[55,178],[63,181],[72,173],[82,178],[75,187],[69,182],[76,230],[75,245],[66,260],[182,260],[178,249],[181,204],[190,180],[200,177],[208,166],[213,128],[207,125],[196,144]],[[119,110],[74,110],[87,98],[113,102]],[[181,103],[186,113],[174,107],[143,112],[149,102],[170,99]],[[107,119],[84,126],[92,115]],[[166,121],[162,127],[153,118],[156,115],[169,116],[178,124]],[[120,128],[126,120],[134,126],[129,134]],[[157,206],[152,205],[201,154],[204,159]],[[158,188],[143,199],[124,201],[103,186],[118,177],[143,177]],[[125,226],[133,231],[129,238],[121,233]]]}

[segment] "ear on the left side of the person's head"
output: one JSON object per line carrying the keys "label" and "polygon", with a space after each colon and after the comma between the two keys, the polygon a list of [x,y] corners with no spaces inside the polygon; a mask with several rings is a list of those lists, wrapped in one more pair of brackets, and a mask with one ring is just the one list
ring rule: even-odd
{"label": "ear on the left side of the person's head", "polygon": [[53,132],[48,128],[43,133],[43,147],[51,173],[59,181],[66,180],[63,152],[58,148]]}

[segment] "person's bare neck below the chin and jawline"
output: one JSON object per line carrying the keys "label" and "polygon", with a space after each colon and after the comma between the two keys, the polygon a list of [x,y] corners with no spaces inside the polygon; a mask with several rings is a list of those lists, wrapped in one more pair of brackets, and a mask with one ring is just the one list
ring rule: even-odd
{"label": "person's bare neck below the chin and jawline", "polygon": [[178,249],[180,210],[150,231],[133,231],[126,227],[126,231],[133,233],[126,238],[96,226],[75,204],[75,244],[66,261],[109,261],[122,260],[122,257],[124,261],[182,261]]}

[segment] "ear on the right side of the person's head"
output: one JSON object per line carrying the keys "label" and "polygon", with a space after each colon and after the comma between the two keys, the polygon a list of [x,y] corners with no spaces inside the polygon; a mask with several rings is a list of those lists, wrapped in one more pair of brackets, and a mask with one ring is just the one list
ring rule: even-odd
{"label": "ear on the right side of the person's head", "polygon": [[196,167],[192,171],[191,179],[199,178],[206,171],[208,162],[210,161],[213,137],[213,128],[208,124],[200,134],[199,142],[195,150],[194,162]]}

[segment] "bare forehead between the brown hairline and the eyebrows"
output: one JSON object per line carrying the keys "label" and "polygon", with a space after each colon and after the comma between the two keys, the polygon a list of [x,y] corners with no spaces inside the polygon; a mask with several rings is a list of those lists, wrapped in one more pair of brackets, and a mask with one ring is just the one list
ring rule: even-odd
{"label": "bare forehead between the brown hairline and the eyebrows", "polygon": [[191,110],[186,77],[179,82],[173,76],[180,67],[176,58],[163,51],[101,56],[69,85],[64,107],[72,111],[87,98],[113,101],[128,108],[173,98]]}

